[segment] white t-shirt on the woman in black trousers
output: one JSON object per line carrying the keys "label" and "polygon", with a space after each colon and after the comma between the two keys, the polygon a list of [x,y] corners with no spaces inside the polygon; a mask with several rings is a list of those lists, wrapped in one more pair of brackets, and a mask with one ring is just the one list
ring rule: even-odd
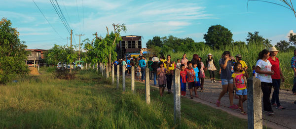
{"label": "white t-shirt on the woman in black trousers", "polygon": [[[266,62],[263,61],[263,60],[258,60],[257,61],[257,66],[260,67],[260,70],[262,71],[265,71],[265,72],[268,72],[268,71],[271,71],[271,64],[270,62],[267,60]],[[272,83],[272,79],[271,79],[271,75],[267,75],[267,74],[259,74],[258,73],[258,78],[261,82],[264,82],[264,83]]]}

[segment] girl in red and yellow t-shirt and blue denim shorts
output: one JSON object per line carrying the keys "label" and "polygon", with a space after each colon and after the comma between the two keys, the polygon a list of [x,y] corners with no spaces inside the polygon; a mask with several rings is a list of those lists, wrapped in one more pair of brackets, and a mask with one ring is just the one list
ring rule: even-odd
{"label": "girl in red and yellow t-shirt and blue denim shorts", "polygon": [[249,78],[248,72],[245,68],[242,68],[242,64],[237,62],[233,66],[234,73],[231,75],[233,79],[233,85],[235,86],[236,94],[239,96],[238,106],[241,109],[241,114],[247,115],[244,111],[243,102],[247,100],[247,86],[246,86],[246,78]]}

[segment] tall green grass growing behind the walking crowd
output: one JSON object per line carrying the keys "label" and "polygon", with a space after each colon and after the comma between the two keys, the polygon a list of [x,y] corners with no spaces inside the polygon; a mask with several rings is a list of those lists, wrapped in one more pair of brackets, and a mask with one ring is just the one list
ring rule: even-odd
{"label": "tall green grass growing behind the walking crowd", "polygon": [[[250,43],[249,45],[237,45],[237,46],[225,46],[220,50],[213,50],[211,48],[202,48],[199,51],[192,51],[192,52],[168,52],[166,54],[170,54],[173,60],[181,59],[183,54],[186,53],[188,60],[192,59],[193,54],[198,54],[200,57],[203,58],[203,62],[205,63],[208,53],[211,53],[213,59],[215,60],[215,65],[218,67],[216,75],[217,78],[219,77],[219,59],[221,59],[222,53],[225,50],[230,51],[231,55],[235,56],[236,54],[242,55],[242,60],[246,62],[248,65],[248,72],[249,75],[252,75],[252,66],[256,65],[258,54],[261,50],[266,49],[262,43]],[[268,48],[267,48],[268,49]],[[293,70],[291,69],[291,58],[294,56],[294,51],[287,51],[287,52],[279,52],[277,57],[280,60],[280,67],[286,78],[286,82],[282,84],[282,87],[291,89],[293,86]],[[206,76],[209,75],[206,72]],[[209,77],[209,76],[207,76]]]}

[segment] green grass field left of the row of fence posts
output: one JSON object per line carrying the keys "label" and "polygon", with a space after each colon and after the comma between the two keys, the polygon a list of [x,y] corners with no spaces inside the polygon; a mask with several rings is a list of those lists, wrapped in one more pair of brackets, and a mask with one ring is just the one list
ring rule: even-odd
{"label": "green grass field left of the row of fence posts", "polygon": [[136,82],[135,86],[136,94],[122,93],[94,71],[80,71],[69,81],[55,79],[43,69],[40,76],[0,86],[0,128],[247,128],[247,120],[189,99],[181,100],[181,124],[174,125],[173,95],[160,97],[158,89],[150,88],[147,105],[144,84]]}

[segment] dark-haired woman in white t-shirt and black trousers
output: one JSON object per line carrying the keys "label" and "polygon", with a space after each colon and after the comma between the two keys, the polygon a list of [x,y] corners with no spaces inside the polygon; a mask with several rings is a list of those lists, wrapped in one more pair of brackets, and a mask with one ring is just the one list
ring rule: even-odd
{"label": "dark-haired woman in white t-shirt and black trousers", "polygon": [[274,113],[271,108],[269,96],[272,87],[271,75],[273,75],[274,72],[271,71],[271,64],[267,60],[269,58],[269,54],[270,53],[267,49],[259,52],[255,71],[258,73],[257,76],[261,81],[261,90],[263,92],[263,110],[266,111],[268,115],[272,115]]}

